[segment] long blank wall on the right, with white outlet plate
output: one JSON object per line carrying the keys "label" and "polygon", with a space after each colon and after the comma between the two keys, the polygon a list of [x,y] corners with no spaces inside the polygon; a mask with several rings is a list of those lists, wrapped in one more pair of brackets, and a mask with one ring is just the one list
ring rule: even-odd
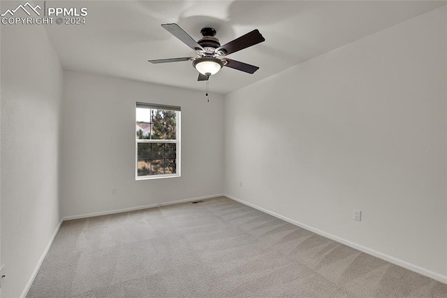
{"label": "long blank wall on the right, with white outlet plate", "polygon": [[445,6],[228,94],[225,127],[226,194],[447,282]]}

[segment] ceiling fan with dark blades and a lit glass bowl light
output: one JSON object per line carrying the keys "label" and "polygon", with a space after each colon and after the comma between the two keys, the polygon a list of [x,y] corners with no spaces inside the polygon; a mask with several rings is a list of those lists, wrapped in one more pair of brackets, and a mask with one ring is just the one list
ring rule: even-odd
{"label": "ceiling fan with dark blades and a lit glass bowl light", "polygon": [[179,40],[183,41],[189,48],[196,51],[197,57],[149,60],[151,63],[192,61],[194,68],[199,72],[198,80],[208,80],[210,76],[217,73],[223,66],[237,69],[238,71],[244,71],[246,73],[254,73],[259,69],[258,66],[228,59],[226,57],[226,55],[233,52],[249,48],[251,45],[256,45],[265,41],[265,38],[259,33],[258,29],[254,29],[225,45],[221,45],[219,39],[214,37],[214,35],[216,35],[216,30],[213,28],[203,28],[200,31],[203,38],[199,41],[195,41],[177,24],[161,24],[161,27],[168,30],[173,36],[179,38]]}

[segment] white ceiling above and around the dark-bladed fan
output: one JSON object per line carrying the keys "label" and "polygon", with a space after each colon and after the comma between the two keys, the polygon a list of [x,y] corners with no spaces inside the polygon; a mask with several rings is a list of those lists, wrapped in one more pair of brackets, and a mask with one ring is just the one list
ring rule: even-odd
{"label": "white ceiling above and around the dark-bladed fan", "polygon": [[265,42],[228,55],[259,66],[254,74],[223,68],[210,90],[226,94],[359,38],[445,5],[446,1],[51,1],[86,7],[86,24],[45,26],[64,69],[205,90],[193,56],[160,24],[177,23],[198,40],[213,27],[223,45],[258,29]]}

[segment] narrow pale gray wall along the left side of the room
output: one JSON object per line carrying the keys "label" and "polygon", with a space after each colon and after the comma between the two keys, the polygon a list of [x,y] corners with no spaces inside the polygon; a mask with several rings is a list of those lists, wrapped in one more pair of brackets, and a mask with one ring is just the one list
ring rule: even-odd
{"label": "narrow pale gray wall along the left side of the room", "polygon": [[61,220],[62,69],[43,26],[1,25],[2,297],[19,297]]}

